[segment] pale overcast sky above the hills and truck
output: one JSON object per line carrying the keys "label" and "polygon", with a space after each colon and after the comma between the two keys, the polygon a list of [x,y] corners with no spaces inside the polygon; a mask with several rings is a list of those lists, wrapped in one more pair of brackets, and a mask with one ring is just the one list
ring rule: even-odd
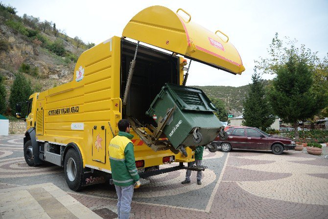
{"label": "pale overcast sky above the hills and truck", "polygon": [[[233,75],[192,62],[187,85],[242,86],[251,83],[254,60],[267,55],[275,33],[296,38],[299,44],[328,52],[328,0],[0,0],[17,8],[18,15],[52,21],[70,37],[99,44],[121,36],[123,28],[142,9],[162,5],[185,9],[192,20],[211,31],[220,29],[239,51],[246,71]],[[272,79],[273,75],[263,75]]]}

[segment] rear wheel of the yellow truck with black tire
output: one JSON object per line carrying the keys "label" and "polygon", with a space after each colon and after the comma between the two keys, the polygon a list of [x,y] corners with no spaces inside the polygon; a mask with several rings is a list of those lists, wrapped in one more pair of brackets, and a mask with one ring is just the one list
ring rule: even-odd
{"label": "rear wheel of the yellow truck with black tire", "polygon": [[75,149],[71,148],[67,151],[64,161],[64,174],[67,185],[73,191],[82,189],[82,161]]}

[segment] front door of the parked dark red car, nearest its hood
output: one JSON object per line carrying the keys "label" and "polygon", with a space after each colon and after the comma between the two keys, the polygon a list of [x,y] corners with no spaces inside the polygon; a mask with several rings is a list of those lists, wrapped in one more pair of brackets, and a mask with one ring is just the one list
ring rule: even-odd
{"label": "front door of the parked dark red car, nearest its hood", "polygon": [[246,128],[248,149],[264,150],[267,147],[267,138],[254,128]]}

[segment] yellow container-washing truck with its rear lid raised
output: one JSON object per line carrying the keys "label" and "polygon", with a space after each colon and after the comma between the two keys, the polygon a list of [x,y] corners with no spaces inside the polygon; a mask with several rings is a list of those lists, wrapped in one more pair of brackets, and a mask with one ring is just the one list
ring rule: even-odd
{"label": "yellow container-washing truck with its rear lid raised", "polygon": [[[188,68],[185,58],[190,60]],[[113,36],[81,54],[72,81],[30,96],[23,141],[26,163],[64,167],[74,191],[104,182],[111,177],[109,142],[118,133],[117,122],[129,119],[141,177],[186,168],[204,170],[183,164],[194,161],[196,145],[173,148],[170,144],[169,137],[181,120],[170,136],[164,134],[175,106],[161,118],[146,115],[166,83],[170,88],[186,84],[191,60],[233,74],[245,70],[239,53],[221,31],[211,32],[194,23],[183,9],[143,9],[125,26],[122,37]],[[197,142],[201,129],[187,134]],[[173,162],[177,165],[159,168]]]}

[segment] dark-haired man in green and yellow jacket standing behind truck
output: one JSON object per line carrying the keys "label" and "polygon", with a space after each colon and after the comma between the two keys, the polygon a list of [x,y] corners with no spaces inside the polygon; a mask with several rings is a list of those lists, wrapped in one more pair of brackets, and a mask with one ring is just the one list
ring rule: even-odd
{"label": "dark-haired man in green and yellow jacket standing behind truck", "polygon": [[133,189],[139,188],[141,183],[131,142],[130,122],[120,120],[117,125],[119,132],[111,140],[108,153],[117,193],[117,215],[119,219],[129,219]]}

